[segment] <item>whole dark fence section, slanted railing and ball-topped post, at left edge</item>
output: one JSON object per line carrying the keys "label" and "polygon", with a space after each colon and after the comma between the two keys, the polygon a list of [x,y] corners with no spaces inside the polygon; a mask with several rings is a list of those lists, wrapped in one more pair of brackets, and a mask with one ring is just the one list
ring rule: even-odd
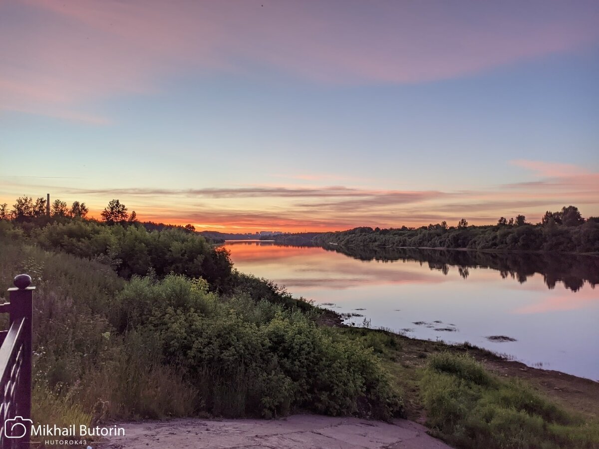
{"label": "whole dark fence section, slanted railing and ball-topped post, at left edge", "polygon": [[8,330],[0,332],[0,445],[2,449],[29,448],[31,436],[31,277],[14,278],[10,302],[0,313],[10,314]]}

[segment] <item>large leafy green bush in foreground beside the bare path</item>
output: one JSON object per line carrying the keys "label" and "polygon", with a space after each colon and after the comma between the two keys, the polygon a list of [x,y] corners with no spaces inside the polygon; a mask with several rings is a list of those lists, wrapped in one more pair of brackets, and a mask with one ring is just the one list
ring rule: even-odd
{"label": "large leafy green bush in foreground beside the bare path", "polygon": [[298,311],[245,296],[223,301],[196,284],[176,275],[134,278],[121,298],[127,309],[152,311],[138,326],[157,332],[166,359],[198,380],[205,411],[273,417],[309,409],[379,418],[400,411],[370,349]]}

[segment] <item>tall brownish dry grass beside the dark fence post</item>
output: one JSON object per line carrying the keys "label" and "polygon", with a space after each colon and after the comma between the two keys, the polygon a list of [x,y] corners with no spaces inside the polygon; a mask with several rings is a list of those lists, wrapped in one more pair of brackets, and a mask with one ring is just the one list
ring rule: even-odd
{"label": "tall brownish dry grass beside the dark fence post", "polygon": [[0,273],[3,300],[18,273],[32,275],[36,287],[32,413],[37,424],[193,413],[198,393],[180,370],[162,365],[161,354],[144,347],[140,336],[119,334],[110,323],[126,281],[109,266],[44,251],[17,234],[16,240],[0,236]]}

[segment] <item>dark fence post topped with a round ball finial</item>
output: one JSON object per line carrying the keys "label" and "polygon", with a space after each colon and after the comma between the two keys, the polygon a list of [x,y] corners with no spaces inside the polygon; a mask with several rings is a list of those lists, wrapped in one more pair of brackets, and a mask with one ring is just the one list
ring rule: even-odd
{"label": "dark fence post topped with a round ball finial", "polygon": [[[15,399],[17,413],[26,420],[31,419],[31,351],[32,351],[32,317],[33,317],[33,291],[31,287],[31,276],[19,275],[14,278],[14,288],[10,292],[10,324],[20,318],[25,318],[23,323],[23,361]],[[25,421],[27,423],[27,421]],[[20,438],[20,447],[29,447],[31,437],[31,421],[25,436]]]}

